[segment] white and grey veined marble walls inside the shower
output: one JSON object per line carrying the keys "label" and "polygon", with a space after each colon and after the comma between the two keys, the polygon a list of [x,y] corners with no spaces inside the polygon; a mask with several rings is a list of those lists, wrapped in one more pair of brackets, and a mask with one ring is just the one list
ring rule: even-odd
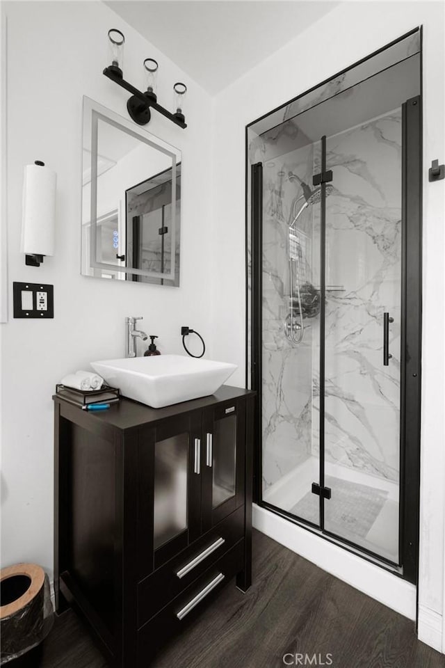
{"label": "white and grey veined marble walls inside the shower", "polygon": [[[276,138],[275,138],[276,141]],[[256,147],[259,147],[258,141]],[[268,157],[274,154],[268,147]],[[261,159],[259,155],[258,159]],[[327,139],[325,453],[327,461],[398,480],[401,294],[401,113]],[[289,223],[312,184],[319,150],[306,145],[264,162],[263,486],[319,454],[319,316],[295,346],[289,313]],[[319,286],[319,205],[298,220],[305,278]],[[336,288],[334,290],[334,288]],[[393,358],[382,366],[382,317],[394,317]]]}

